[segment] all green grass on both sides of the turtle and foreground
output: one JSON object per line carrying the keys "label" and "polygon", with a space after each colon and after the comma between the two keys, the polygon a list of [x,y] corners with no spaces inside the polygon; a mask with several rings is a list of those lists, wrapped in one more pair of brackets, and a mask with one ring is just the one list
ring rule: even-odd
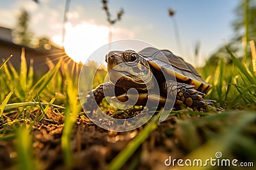
{"label": "all green grass on both sides of the turtle and foreground", "polygon": [[[256,142],[253,138],[256,132],[256,76],[252,68],[246,62],[241,62],[228,47],[227,52],[232,64],[221,59],[217,67],[207,64],[200,69],[204,78],[214,85],[206,98],[218,101],[217,105],[225,111],[198,113],[182,110],[170,114],[175,115],[178,122],[175,129],[168,132],[177,136],[188,152],[187,158],[195,159],[201,153],[205,153],[204,158],[207,158],[218,151],[227,157],[239,157],[240,153],[248,160],[256,157]],[[15,140],[19,169],[40,169],[36,164],[38,160],[33,157],[31,129],[36,123],[49,119],[49,108],[57,108],[60,117],[65,117],[61,136],[64,162],[67,167],[72,166],[72,129],[81,111],[77,99],[77,67],[73,65],[68,69],[63,60],[60,60],[36,79],[33,62],[29,67],[26,65],[24,51],[19,70],[8,62],[10,57],[0,65],[0,141]],[[102,77],[97,75],[96,80],[101,83]],[[157,125],[161,126],[157,124],[159,115],[152,118],[136,138],[111,160],[109,169],[124,166],[150,133],[157,129]]]}

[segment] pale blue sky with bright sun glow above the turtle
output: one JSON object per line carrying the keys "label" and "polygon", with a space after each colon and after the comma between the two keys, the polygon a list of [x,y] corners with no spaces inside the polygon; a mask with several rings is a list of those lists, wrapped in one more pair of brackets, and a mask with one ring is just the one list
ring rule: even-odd
{"label": "pale blue sky with bright sun glow above the turtle", "polygon": [[[48,36],[61,43],[65,0],[0,1],[0,26],[13,28],[22,8],[31,16],[29,28],[36,36]],[[109,0],[113,18],[120,8],[124,15],[111,27],[112,41],[139,39],[159,49],[168,49],[188,62],[200,66],[205,59],[233,36],[232,21],[239,0]],[[168,15],[168,8],[175,15]],[[96,50],[108,43],[109,25],[100,0],[70,0],[68,23],[65,25],[67,50]],[[177,28],[177,29],[175,29]],[[78,36],[77,36],[78,34]],[[93,43],[93,42],[94,43]],[[95,42],[96,41],[96,42]],[[199,58],[195,46],[200,43]],[[86,50],[87,49],[87,50]],[[71,52],[72,53],[72,52]],[[90,53],[83,53],[89,55]]]}

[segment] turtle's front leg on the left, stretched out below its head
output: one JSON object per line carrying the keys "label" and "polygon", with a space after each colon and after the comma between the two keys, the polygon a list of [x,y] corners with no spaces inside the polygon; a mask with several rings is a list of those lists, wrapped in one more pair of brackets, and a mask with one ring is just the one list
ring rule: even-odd
{"label": "turtle's front leg on the left, stretched out below its head", "polygon": [[121,87],[115,87],[113,83],[106,82],[97,86],[95,89],[88,92],[86,96],[86,102],[84,103],[84,108],[88,111],[93,111],[98,108],[98,105],[102,103],[104,97],[123,94],[125,90]]}

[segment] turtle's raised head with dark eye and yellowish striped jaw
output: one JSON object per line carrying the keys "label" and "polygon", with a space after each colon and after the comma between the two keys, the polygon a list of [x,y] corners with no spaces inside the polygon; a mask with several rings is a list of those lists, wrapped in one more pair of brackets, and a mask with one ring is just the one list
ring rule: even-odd
{"label": "turtle's raised head with dark eye and yellowish striped jaw", "polygon": [[133,50],[112,51],[106,55],[109,79],[118,87],[152,88],[152,71],[139,53]]}

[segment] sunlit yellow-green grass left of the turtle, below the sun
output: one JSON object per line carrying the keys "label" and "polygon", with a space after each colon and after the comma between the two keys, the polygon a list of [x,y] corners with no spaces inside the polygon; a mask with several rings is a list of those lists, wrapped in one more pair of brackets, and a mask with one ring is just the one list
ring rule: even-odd
{"label": "sunlit yellow-green grass left of the turtle, below the sun", "polygon": [[[0,104],[0,141],[15,139],[19,169],[40,169],[36,167],[33,159],[31,129],[36,122],[48,119],[49,108],[57,108],[60,113],[62,112],[60,116],[66,116],[61,145],[65,162],[69,165],[70,133],[81,110],[77,100],[77,83],[75,83],[79,75],[76,72],[77,67],[73,65],[74,67],[68,73],[66,67],[68,64],[63,64],[63,60],[60,60],[36,80],[33,60],[28,67],[23,49],[19,70],[8,62],[11,57],[0,65],[0,101],[2,101]],[[61,70],[67,71],[62,73]]]}

